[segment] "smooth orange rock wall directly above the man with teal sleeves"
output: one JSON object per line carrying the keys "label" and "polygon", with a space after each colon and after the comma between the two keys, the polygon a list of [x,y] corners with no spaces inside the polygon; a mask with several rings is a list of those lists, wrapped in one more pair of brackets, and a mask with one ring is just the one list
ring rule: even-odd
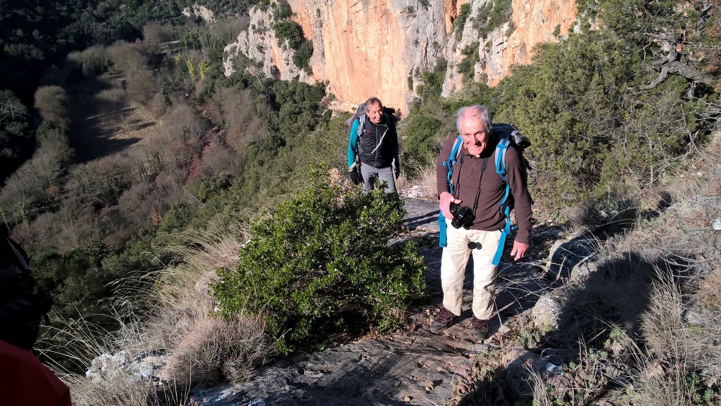
{"label": "smooth orange rock wall directly above the man with teal sleeves", "polygon": [[[406,105],[405,35],[391,0],[288,3],[304,35],[314,38],[314,79],[329,81],[329,91],[349,107],[371,96],[389,106]],[[313,35],[318,20],[320,37]],[[324,58],[315,55],[319,48]]]}

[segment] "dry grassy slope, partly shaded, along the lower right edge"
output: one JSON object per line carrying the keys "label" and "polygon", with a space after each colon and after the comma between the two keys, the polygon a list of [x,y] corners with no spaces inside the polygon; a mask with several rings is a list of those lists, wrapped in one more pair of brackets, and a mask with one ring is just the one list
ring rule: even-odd
{"label": "dry grassy slope, partly shaded, along the lower right edge", "polygon": [[[721,403],[720,157],[717,133],[663,187],[626,199],[637,219],[598,244],[598,270],[569,290],[573,309],[564,312],[572,317],[562,317],[554,335],[598,339],[581,348],[575,367],[565,365],[565,387],[533,377],[534,405],[586,405],[579,395],[594,392],[614,405]],[[623,213],[621,200],[582,208],[575,226],[603,234],[617,226],[611,219],[628,223],[608,215]],[[600,369],[583,361],[599,354]]]}

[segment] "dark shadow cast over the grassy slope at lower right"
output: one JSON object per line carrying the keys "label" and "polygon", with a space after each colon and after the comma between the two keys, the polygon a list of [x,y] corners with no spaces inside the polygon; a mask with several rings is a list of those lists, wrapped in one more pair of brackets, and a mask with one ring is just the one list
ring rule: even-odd
{"label": "dark shadow cast over the grassy slope at lower right", "polygon": [[[669,276],[677,280],[686,278],[693,261],[674,255],[650,260],[640,252],[628,252],[624,257],[598,265],[583,284],[571,286],[565,291],[566,299],[559,310],[557,330],[542,335],[539,345],[528,348],[542,366],[531,368],[528,362],[529,366],[521,372],[523,379],[520,380],[526,381],[525,387],[518,387],[518,371],[511,374],[508,369],[499,367],[487,374],[492,378],[491,382],[477,381],[473,391],[459,405],[530,405],[534,389],[531,386],[531,369],[543,379],[549,379],[549,387],[559,387],[557,383],[552,383],[552,379],[566,380],[562,390],[554,392],[554,396],[560,396],[557,402],[572,402],[574,391],[577,394],[592,392],[592,398],[596,400],[608,397],[632,378],[632,373],[625,368],[627,361],[623,361],[627,356],[616,354],[612,349],[615,341],[627,336],[638,348],[645,347],[642,317],[650,309],[654,284]],[[583,362],[589,354],[601,353],[609,354],[610,358],[587,366],[593,371],[583,371]],[[616,356],[619,358],[614,358]],[[598,379],[586,382],[588,387],[579,387],[580,381],[574,381],[572,370],[566,371],[570,376],[559,378],[544,368],[544,365],[568,366],[570,363],[580,366],[580,372],[576,372],[588,374],[587,378],[598,374]],[[507,375],[508,379],[499,379]]]}

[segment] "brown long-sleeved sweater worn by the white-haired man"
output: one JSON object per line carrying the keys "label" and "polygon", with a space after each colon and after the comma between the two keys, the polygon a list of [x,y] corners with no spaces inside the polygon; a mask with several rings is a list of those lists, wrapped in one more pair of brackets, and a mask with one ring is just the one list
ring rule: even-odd
{"label": "brown long-sleeved sweater worn by the white-haired man", "polygon": [[[443,167],[443,160],[447,159],[453,149],[456,138],[451,138],[443,143],[441,155],[435,162],[435,178],[438,185],[438,195],[448,190],[448,169]],[[474,212],[475,219],[471,229],[475,230],[499,230],[505,227],[505,216],[500,212],[500,200],[503,199],[505,183],[495,171],[495,139],[491,139],[485,151],[480,157],[466,154],[466,149],[461,146],[461,153],[454,164],[453,178],[454,194],[456,199],[463,200],[461,206],[473,208],[476,199],[479,176],[484,157],[488,158],[486,169],[480,179],[481,193],[478,198],[478,207]],[[531,195],[528,194],[528,175],[526,167],[521,160],[520,154],[515,148],[508,148],[505,155],[506,179],[510,185],[510,192],[515,198],[516,221],[518,222],[518,234],[516,241],[528,244],[531,236]],[[450,222],[448,223],[450,224]]]}

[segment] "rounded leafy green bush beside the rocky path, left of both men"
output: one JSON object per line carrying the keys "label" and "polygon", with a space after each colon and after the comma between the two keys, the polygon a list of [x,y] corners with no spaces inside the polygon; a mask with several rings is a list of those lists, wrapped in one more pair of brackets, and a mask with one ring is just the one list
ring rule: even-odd
{"label": "rounded leafy green bush beside the rocky path, left of both men", "polygon": [[266,314],[282,353],[327,343],[334,333],[402,321],[421,294],[423,258],[411,241],[389,244],[402,227],[397,195],[327,185],[321,171],[297,198],[252,227],[235,269],[219,268],[213,291],[227,317]]}

